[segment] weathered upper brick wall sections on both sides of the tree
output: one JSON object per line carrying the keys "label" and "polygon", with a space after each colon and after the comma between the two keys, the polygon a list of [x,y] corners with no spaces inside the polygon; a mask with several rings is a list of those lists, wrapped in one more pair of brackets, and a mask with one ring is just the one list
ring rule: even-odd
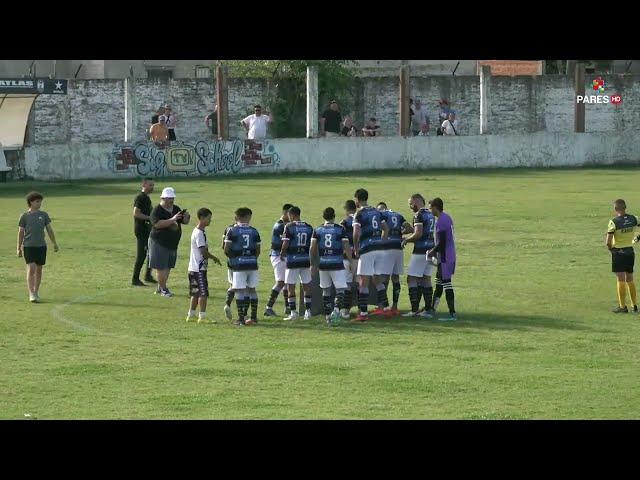
{"label": "weathered upper brick wall sections on both sides of the tree", "polygon": [[[592,78],[587,77],[587,94]],[[610,132],[640,129],[640,76],[608,75],[606,94],[622,95],[620,106],[586,105],[586,131]],[[376,117],[384,135],[399,129],[399,79],[366,77],[361,85],[361,108],[355,120],[359,128]],[[265,105],[269,88],[264,80],[230,79],[229,110],[231,137],[246,138],[239,122],[255,103]],[[122,142],[124,140],[124,81],[77,80],[69,82],[68,95],[41,95],[34,107],[32,126],[35,144]],[[492,77],[491,133],[537,131],[571,132],[575,95],[573,82],[564,75]],[[427,109],[432,130],[438,120],[437,101],[445,98],[457,112],[463,135],[479,132],[480,80],[478,76],[411,78],[411,96]],[[338,99],[340,100],[340,99]],[[135,137],[145,138],[151,115],[170,103],[179,115],[178,139],[210,138],[204,117],[215,104],[212,79],[178,79],[135,82]],[[275,119],[277,121],[277,119]],[[269,135],[268,135],[269,136]]]}

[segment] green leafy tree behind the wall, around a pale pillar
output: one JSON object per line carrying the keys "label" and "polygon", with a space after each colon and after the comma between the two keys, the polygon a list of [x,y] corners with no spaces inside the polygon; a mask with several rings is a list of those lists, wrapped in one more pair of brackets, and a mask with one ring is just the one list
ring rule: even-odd
{"label": "green leafy tree behind the wall, around a pale pillar", "polygon": [[329,99],[337,99],[343,112],[355,109],[357,82],[352,60],[227,60],[229,77],[264,78],[268,94],[266,106],[274,116],[275,137],[306,135],[307,67],[318,67],[320,110]]}

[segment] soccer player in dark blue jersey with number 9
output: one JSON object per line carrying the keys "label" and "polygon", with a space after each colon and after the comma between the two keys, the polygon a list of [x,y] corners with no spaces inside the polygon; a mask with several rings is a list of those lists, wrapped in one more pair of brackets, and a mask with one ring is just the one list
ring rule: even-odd
{"label": "soccer player in dark blue jersey with number 9", "polygon": [[[376,206],[382,219],[389,227],[389,236],[382,242],[380,252],[382,255],[382,274],[380,281],[385,290],[389,288],[389,279],[393,283],[393,303],[391,311],[399,315],[398,300],[400,299],[400,275],[404,273],[404,252],[402,250],[402,234],[411,231],[411,225],[404,219],[401,213],[389,210],[385,202]],[[379,306],[380,308],[380,306]],[[382,312],[379,312],[382,313]]]}

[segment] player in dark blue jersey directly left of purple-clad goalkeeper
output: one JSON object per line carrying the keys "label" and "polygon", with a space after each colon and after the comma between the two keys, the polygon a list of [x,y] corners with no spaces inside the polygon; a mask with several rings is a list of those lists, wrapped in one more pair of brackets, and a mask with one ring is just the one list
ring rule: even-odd
{"label": "player in dark blue jersey directly left of purple-clad goalkeeper", "polygon": [[[411,312],[403,317],[425,318],[433,317],[433,287],[431,285],[431,273],[433,264],[427,260],[427,252],[435,245],[436,219],[425,205],[425,200],[419,193],[414,193],[409,198],[409,208],[414,212],[413,233],[402,241],[404,247],[407,243],[413,243],[413,254],[407,269],[407,286],[409,287],[409,301]],[[424,297],[425,308],[420,313],[420,300]]]}

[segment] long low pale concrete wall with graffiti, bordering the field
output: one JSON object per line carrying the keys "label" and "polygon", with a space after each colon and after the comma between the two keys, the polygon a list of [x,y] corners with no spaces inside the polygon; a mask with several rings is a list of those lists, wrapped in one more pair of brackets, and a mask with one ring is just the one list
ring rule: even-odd
{"label": "long low pale concrete wall with graffiti, bordering the field", "polygon": [[208,141],[167,150],[147,144],[46,145],[25,150],[36,180],[218,176],[367,169],[560,167],[640,163],[640,136],[545,133]]}

